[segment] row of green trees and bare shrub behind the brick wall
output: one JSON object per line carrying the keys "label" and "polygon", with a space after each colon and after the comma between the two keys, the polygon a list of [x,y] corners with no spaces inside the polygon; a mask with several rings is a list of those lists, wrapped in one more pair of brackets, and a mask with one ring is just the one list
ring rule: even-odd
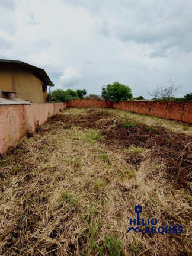
{"label": "row of green trees and bare shrub behind the brick wall", "polygon": [[[192,101],[192,93],[184,95],[184,97],[177,98],[175,94],[180,89],[180,85],[175,85],[175,81],[170,79],[166,85],[157,86],[152,91],[148,91],[148,94],[153,100],[164,101]],[[132,90],[129,86],[120,84],[120,82],[114,82],[113,84],[104,85],[101,89],[101,95],[89,94],[87,95],[86,89],[56,89],[52,92],[49,91],[48,100],[56,102],[68,102],[72,99],[84,99],[89,100],[111,100],[114,102],[130,101],[130,100],[145,100],[142,95],[135,98],[133,97]]]}

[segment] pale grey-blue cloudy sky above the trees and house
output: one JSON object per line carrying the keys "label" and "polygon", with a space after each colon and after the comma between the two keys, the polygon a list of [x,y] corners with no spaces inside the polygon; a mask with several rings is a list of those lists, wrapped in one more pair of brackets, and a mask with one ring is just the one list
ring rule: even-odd
{"label": "pale grey-blue cloudy sky above the trees and house", "polygon": [[0,0],[0,59],[46,69],[56,88],[119,81],[135,97],[172,78],[192,91],[191,0]]}

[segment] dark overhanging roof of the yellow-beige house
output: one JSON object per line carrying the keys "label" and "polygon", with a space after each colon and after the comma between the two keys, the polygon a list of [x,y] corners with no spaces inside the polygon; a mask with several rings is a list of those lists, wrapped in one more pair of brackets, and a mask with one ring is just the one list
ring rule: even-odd
{"label": "dark overhanging roof of the yellow-beige house", "polygon": [[9,65],[11,66],[11,68],[14,68],[14,66],[20,66],[20,68],[24,68],[26,71],[43,81],[46,85],[52,85],[52,81],[50,80],[44,69],[38,68],[25,62],[21,62],[20,60],[0,59],[0,64],[1,63]]}

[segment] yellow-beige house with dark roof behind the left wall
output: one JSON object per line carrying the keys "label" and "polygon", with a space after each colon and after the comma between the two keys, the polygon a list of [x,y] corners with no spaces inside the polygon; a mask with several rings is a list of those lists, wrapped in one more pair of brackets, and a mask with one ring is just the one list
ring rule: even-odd
{"label": "yellow-beige house with dark roof behind the left wall", "polygon": [[0,91],[14,92],[16,98],[32,103],[46,103],[47,85],[52,85],[52,81],[44,69],[0,59]]}

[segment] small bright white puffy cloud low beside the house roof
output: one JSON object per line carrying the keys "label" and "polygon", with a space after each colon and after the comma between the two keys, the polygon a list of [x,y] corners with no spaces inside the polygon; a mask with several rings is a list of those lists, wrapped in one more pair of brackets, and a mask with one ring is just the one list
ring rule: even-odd
{"label": "small bright white puffy cloud low beside the house roof", "polygon": [[74,87],[81,79],[80,73],[73,67],[66,68],[62,76],[59,76],[59,84],[62,87]]}

